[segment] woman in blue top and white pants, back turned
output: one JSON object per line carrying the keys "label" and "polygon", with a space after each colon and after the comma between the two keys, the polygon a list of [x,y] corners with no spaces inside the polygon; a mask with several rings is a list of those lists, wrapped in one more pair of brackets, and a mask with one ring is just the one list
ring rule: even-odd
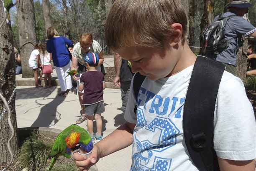
{"label": "woman in blue top and white pants, back turned", "polygon": [[70,71],[70,60],[66,45],[72,47],[73,42],[64,36],[59,36],[53,27],[48,28],[47,37],[49,40],[46,43],[46,48],[51,53],[54,68],[61,86],[59,96],[67,96],[68,93],[72,92],[72,80],[67,74]]}

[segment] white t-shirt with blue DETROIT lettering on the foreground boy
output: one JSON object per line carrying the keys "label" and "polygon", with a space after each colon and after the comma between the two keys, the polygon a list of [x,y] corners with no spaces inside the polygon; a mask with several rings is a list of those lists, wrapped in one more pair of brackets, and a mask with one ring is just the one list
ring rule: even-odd
{"label": "white t-shirt with blue DETROIT lettering on the foreground boy", "polygon": [[[198,171],[184,142],[183,106],[194,65],[156,81],[144,80],[137,116],[133,80],[125,120],[136,123],[130,171]],[[202,99],[204,100],[204,99]],[[256,123],[243,82],[224,72],[215,105],[214,149],[230,160],[255,158]]]}

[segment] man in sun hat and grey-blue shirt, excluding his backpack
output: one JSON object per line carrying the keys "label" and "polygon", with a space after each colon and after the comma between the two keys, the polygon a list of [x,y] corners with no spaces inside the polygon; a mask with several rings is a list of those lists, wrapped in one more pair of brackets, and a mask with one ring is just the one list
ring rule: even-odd
{"label": "man in sun hat and grey-blue shirt, excluding his backpack", "polygon": [[[256,28],[243,18],[243,16],[248,13],[248,9],[251,6],[250,0],[233,0],[228,6],[229,11],[223,14],[223,17],[230,15],[236,16],[230,18],[226,23],[225,40],[230,40],[230,43],[228,44],[228,48],[217,55],[216,61],[225,64],[226,70],[233,75],[237,75],[237,53],[239,48],[243,45],[243,36],[256,38]],[[218,17],[219,16],[217,16],[213,22],[215,22]]]}

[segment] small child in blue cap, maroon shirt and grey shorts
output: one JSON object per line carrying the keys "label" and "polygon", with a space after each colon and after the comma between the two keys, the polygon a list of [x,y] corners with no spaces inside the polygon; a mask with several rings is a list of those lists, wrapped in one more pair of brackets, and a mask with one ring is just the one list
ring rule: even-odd
{"label": "small child in blue cap, maroon shirt and grey shorts", "polygon": [[84,113],[87,116],[87,128],[95,143],[93,136],[93,118],[96,120],[97,133],[95,138],[97,141],[102,139],[102,118],[101,113],[105,111],[103,101],[103,90],[105,89],[104,75],[97,71],[96,67],[99,63],[99,56],[97,53],[88,53],[85,58],[87,72],[83,73],[80,78],[79,91],[84,90],[84,98],[82,105],[84,105]]}

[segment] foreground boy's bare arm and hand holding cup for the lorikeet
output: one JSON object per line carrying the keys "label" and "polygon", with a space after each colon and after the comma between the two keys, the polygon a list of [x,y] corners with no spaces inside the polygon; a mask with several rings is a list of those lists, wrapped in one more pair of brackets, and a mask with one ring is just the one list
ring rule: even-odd
{"label": "foreground boy's bare arm and hand holding cup for the lorikeet", "polygon": [[88,171],[92,165],[97,163],[99,158],[130,146],[133,143],[133,129],[135,125],[136,124],[125,122],[113,131],[113,133],[96,143],[93,146],[90,158],[74,153],[75,163],[80,171]]}

